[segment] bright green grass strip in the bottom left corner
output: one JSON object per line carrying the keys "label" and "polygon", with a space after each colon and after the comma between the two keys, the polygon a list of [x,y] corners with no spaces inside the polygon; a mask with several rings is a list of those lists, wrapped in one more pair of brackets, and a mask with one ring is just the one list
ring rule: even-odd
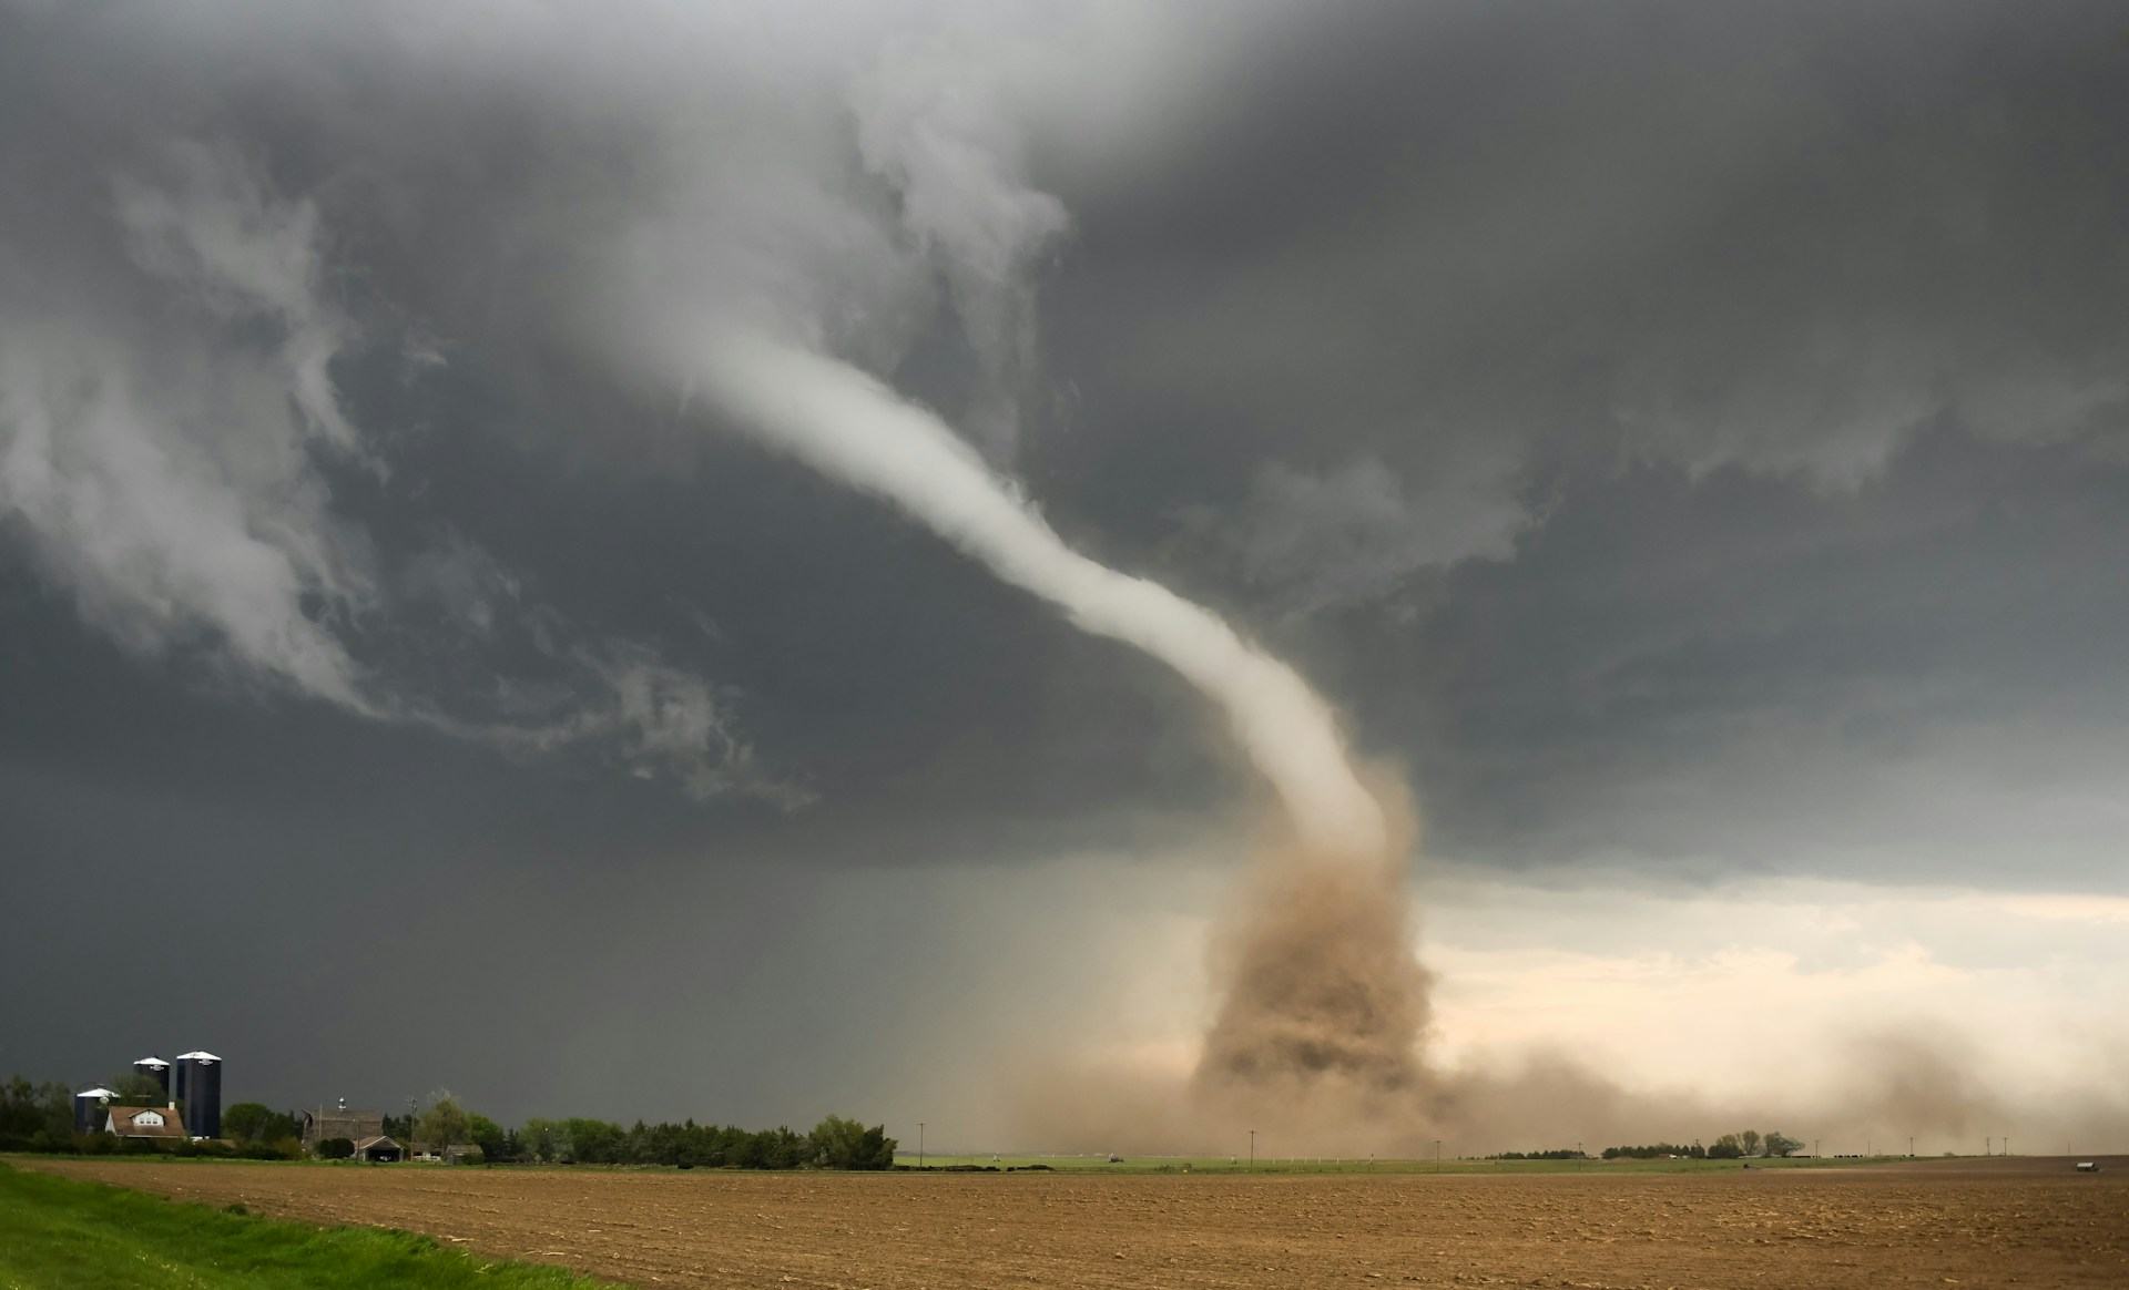
{"label": "bright green grass strip in the bottom left corner", "polygon": [[0,1164],[0,1290],[605,1284],[411,1233],[315,1228]]}

